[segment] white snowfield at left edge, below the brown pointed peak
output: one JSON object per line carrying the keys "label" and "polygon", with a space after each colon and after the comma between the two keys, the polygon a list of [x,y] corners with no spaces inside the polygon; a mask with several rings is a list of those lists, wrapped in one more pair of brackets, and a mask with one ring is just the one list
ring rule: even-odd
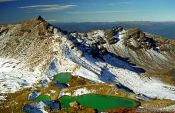
{"label": "white snowfield at left edge, below the brown pointed peak", "polygon": [[0,58],[0,93],[14,93],[31,87],[42,78],[39,66],[30,72],[18,60]]}

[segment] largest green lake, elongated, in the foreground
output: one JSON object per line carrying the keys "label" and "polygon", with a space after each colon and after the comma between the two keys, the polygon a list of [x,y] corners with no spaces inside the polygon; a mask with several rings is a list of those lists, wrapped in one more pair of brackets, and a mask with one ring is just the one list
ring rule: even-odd
{"label": "largest green lake, elongated, in the foreground", "polygon": [[97,109],[98,111],[104,111],[113,108],[136,108],[140,103],[136,100],[117,97],[117,96],[105,96],[98,94],[85,94],[81,96],[71,97],[63,96],[60,99],[62,108],[69,108],[70,102],[77,101],[80,105]]}

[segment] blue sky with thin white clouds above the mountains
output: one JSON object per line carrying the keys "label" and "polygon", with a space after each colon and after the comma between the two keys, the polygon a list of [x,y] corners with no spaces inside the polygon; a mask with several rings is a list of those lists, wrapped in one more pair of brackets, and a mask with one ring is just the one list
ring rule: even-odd
{"label": "blue sky with thin white clouds above the mountains", "polygon": [[0,23],[175,21],[175,0],[0,0]]}

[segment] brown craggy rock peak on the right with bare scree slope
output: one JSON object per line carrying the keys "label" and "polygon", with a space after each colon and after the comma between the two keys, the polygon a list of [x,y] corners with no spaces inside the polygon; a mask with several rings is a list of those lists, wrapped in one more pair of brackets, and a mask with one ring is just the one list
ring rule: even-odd
{"label": "brown craggy rock peak on the right with bare scree slope", "polygon": [[139,29],[128,29],[123,34],[123,45],[110,45],[119,56],[148,71],[170,70],[174,68],[175,46],[173,40],[143,33]]}

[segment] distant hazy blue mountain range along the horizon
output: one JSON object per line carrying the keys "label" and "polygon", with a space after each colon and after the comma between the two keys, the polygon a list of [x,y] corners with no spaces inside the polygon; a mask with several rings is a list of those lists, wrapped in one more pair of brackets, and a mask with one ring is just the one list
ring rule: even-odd
{"label": "distant hazy blue mountain range along the horizon", "polygon": [[175,22],[83,22],[83,23],[53,23],[66,31],[88,32],[95,29],[109,29],[113,26],[139,28],[144,32],[157,34],[167,38],[175,38]]}

